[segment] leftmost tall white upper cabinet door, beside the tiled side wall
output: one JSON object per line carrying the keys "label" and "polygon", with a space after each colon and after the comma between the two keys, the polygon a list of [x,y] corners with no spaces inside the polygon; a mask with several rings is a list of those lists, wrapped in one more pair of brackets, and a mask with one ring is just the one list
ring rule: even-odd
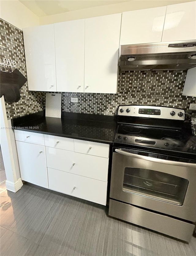
{"label": "leftmost tall white upper cabinet door, beside the tiled side wall", "polygon": [[28,90],[56,91],[54,25],[23,30]]}

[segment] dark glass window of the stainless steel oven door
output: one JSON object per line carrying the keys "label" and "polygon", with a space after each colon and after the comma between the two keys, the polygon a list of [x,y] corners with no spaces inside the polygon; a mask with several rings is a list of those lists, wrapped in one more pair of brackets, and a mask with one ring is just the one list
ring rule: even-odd
{"label": "dark glass window of the stainless steel oven door", "polygon": [[158,171],[126,167],[123,191],[183,205],[188,180]]}

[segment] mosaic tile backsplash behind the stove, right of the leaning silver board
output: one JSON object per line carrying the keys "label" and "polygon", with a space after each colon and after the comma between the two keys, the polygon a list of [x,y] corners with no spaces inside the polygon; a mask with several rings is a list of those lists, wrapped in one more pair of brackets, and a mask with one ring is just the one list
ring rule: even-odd
{"label": "mosaic tile backsplash behind the stove, right of the leaning silver board", "polygon": [[[77,113],[115,115],[123,104],[159,105],[188,110],[196,98],[183,96],[187,71],[122,71],[117,94],[62,93],[62,110]],[[71,102],[78,97],[78,103]]]}

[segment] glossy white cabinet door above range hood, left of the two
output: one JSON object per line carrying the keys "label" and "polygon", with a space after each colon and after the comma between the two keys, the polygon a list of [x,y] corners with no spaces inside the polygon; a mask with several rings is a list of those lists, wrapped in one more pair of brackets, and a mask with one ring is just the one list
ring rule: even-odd
{"label": "glossy white cabinet door above range hood, left of the two", "polygon": [[161,42],[166,8],[123,12],[120,45]]}

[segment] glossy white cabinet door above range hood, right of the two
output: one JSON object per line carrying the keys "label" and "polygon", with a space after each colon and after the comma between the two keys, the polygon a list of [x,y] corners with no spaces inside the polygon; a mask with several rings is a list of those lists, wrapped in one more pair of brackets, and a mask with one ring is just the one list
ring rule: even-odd
{"label": "glossy white cabinet door above range hood, right of the two", "polygon": [[196,2],[167,6],[163,42],[196,39]]}

